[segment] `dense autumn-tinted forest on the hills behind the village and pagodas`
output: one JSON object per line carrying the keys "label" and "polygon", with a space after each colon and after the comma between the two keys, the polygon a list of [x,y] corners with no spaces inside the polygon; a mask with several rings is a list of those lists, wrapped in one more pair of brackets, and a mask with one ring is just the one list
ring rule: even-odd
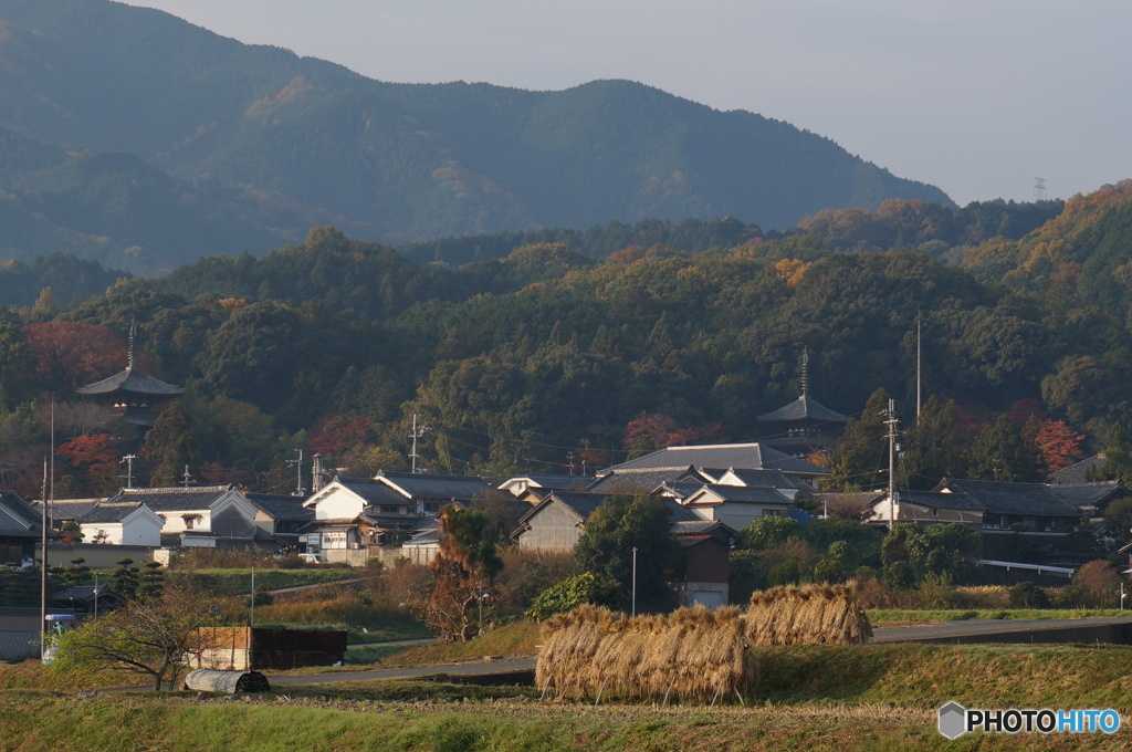
{"label": "dense autumn-tinted forest on the hills behind the village and pagodas", "polygon": [[[822,458],[843,487],[877,481],[887,395],[909,485],[1040,478],[1097,448],[1124,473],[1132,187],[977,208],[890,203],[695,251],[595,258],[538,242],[455,267],[324,227],[261,258],[208,257],[85,297],[60,270],[105,279],[86,263],[12,265],[0,289],[37,292],[0,326],[0,472],[35,494],[52,393],[57,482],[75,494],[113,488],[138,450],[151,482],[189,464],[198,481],[290,488],[284,462],[300,448],[358,472],[404,468],[413,416],[434,471],[593,469],[671,442],[765,437],[756,417],[799,394],[805,347],[809,393],[855,417]],[[918,249],[856,249],[852,223]],[[131,322],[139,365],[188,390],[148,435],[74,401],[125,367]],[[927,404],[914,426],[917,323]]]}

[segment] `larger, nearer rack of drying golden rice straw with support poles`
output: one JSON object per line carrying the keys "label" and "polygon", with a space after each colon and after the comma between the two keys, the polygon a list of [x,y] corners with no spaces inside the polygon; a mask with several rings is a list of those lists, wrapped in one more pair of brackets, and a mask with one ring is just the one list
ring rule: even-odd
{"label": "larger, nearer rack of drying golden rice straw with support poles", "polygon": [[535,682],[560,695],[714,701],[757,678],[738,608],[626,618],[592,606],[543,625]]}

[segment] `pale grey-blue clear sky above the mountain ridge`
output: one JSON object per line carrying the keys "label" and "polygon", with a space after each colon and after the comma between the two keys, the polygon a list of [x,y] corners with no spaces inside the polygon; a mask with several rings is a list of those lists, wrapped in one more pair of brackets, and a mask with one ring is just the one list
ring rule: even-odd
{"label": "pale grey-blue clear sky above the mountain ridge", "polygon": [[1127,0],[127,0],[395,83],[648,84],[966,205],[1132,178]]}

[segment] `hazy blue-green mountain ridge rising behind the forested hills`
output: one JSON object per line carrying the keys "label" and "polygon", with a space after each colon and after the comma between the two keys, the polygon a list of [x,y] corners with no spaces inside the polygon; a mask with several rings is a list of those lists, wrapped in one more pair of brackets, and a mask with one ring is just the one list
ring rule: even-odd
{"label": "hazy blue-green mountain ridge rising behind the forested hills", "polygon": [[0,168],[17,204],[0,212],[26,228],[5,253],[70,238],[145,271],[312,224],[403,243],[727,215],[787,229],[885,198],[950,203],[789,123],[631,82],[387,84],[108,0],[0,0],[0,126],[38,142]]}

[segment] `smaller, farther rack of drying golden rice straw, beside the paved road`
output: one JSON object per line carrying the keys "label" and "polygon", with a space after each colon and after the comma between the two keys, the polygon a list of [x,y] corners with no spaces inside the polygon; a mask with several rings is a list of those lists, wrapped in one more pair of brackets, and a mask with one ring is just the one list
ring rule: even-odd
{"label": "smaller, farther rack of drying golden rice straw, beside the paved road", "polygon": [[755,592],[744,618],[753,646],[861,644],[873,636],[851,586],[790,586]]}

